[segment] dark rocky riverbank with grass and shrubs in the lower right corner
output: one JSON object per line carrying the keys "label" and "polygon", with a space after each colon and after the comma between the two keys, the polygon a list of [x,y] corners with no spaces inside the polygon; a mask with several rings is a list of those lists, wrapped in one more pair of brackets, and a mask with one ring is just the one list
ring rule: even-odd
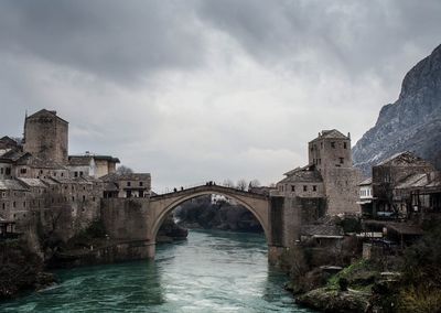
{"label": "dark rocky riverbank with grass and shrubs in the lower right corner", "polygon": [[441,312],[440,245],[441,226],[432,225],[398,253],[359,257],[343,269],[310,267],[299,276],[298,260],[287,288],[297,303],[321,312]]}

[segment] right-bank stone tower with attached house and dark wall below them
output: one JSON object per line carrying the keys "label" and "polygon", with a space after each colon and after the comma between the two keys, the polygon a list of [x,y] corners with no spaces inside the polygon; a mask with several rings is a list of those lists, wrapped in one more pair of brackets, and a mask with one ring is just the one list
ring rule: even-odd
{"label": "right-bank stone tower with attached house and dark wall below them", "polygon": [[279,213],[272,214],[275,223],[283,227],[286,247],[306,236],[304,229],[318,229],[314,224],[326,214],[359,212],[359,174],[352,165],[349,136],[323,130],[309,142],[308,152],[309,164],[287,172],[270,193],[272,202],[280,203]]}

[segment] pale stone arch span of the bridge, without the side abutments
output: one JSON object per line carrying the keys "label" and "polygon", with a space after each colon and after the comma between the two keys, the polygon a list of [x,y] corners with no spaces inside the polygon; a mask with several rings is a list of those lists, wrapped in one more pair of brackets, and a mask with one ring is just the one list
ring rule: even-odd
{"label": "pale stone arch span of the bridge, without the side abutments", "polygon": [[170,194],[152,196],[150,199],[150,208],[154,212],[154,217],[151,220],[150,240],[155,241],[157,234],[166,216],[180,204],[209,194],[224,195],[226,197],[235,199],[238,204],[247,208],[257,218],[261,225],[267,242],[270,242],[270,229],[269,229],[269,201],[268,197],[260,194],[248,193],[238,191],[229,187],[207,185],[198,186],[190,190],[174,192]]}

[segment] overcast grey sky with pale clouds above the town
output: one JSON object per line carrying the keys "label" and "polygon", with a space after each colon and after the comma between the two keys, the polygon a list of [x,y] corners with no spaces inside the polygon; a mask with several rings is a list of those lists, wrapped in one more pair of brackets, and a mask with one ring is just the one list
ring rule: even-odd
{"label": "overcast grey sky with pale clouds above the town", "polygon": [[69,152],[165,187],[268,184],[322,129],[353,144],[441,43],[441,1],[2,0],[0,134],[69,121]]}

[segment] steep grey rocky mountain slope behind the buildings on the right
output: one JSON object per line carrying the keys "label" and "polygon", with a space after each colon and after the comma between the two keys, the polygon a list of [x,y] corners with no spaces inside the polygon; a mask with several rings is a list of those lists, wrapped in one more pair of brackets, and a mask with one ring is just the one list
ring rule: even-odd
{"label": "steep grey rocky mountain slope behind the buildings on the right", "polygon": [[390,155],[412,151],[441,169],[441,45],[406,74],[395,104],[353,148],[355,166],[366,175]]}

